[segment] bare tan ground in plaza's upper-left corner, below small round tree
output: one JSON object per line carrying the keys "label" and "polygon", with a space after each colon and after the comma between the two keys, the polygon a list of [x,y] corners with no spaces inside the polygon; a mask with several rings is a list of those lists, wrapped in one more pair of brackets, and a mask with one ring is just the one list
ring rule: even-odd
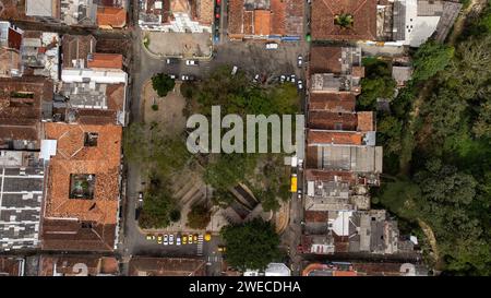
{"label": "bare tan ground in plaza's upper-left corner, below small round tree", "polygon": [[166,135],[176,135],[185,129],[185,117],[182,115],[185,98],[181,95],[180,83],[176,83],[166,97],[159,97],[148,81],[143,86],[142,98],[145,123],[158,123]]}

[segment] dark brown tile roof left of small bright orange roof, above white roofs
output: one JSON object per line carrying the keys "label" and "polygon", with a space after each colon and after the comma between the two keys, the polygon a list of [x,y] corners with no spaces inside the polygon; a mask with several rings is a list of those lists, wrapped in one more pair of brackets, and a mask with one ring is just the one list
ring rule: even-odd
{"label": "dark brown tile roof left of small bright orange roof, above white roofs", "polygon": [[[88,55],[96,49],[97,40],[92,35],[63,35],[61,48],[63,49],[63,68],[87,65]],[[76,65],[76,61],[83,59],[82,65]],[[75,63],[73,63],[75,61]]]}

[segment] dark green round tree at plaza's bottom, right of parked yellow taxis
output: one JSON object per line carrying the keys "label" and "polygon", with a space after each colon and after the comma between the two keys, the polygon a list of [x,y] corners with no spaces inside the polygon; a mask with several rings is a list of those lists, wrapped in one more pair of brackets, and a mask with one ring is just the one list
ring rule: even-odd
{"label": "dark green round tree at plaza's bottom, right of parked yellow taxis", "polygon": [[227,246],[227,263],[240,271],[264,270],[280,258],[279,236],[275,227],[262,219],[226,226],[220,231]]}

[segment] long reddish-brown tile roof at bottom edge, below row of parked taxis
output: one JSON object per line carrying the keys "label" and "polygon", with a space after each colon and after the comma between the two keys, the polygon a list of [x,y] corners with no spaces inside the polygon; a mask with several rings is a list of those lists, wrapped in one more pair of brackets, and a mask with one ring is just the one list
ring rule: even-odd
{"label": "long reddish-brown tile roof at bottom edge, below row of parked taxis", "polygon": [[204,276],[206,266],[201,259],[133,257],[130,276]]}

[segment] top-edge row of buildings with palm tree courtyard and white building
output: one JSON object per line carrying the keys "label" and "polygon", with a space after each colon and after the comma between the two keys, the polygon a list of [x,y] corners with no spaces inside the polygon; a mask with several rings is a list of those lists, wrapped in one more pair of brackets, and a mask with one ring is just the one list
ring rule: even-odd
{"label": "top-edge row of buildings with palm tree courtyard and white building", "polygon": [[310,5],[311,20],[304,20],[306,1],[230,0],[228,37],[298,40],[307,26],[314,41],[418,47],[433,34],[443,40],[462,7],[440,0],[312,0]]}

